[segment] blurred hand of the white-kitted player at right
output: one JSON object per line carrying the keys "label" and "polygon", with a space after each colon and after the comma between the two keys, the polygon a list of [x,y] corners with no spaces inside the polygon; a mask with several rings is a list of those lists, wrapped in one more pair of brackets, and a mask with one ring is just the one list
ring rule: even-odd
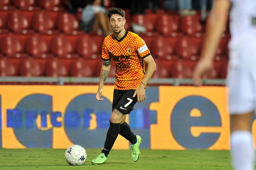
{"label": "blurred hand of the white-kitted player at right", "polygon": [[213,68],[213,61],[211,59],[200,59],[193,72],[193,80],[195,86],[202,85],[202,77],[206,75]]}

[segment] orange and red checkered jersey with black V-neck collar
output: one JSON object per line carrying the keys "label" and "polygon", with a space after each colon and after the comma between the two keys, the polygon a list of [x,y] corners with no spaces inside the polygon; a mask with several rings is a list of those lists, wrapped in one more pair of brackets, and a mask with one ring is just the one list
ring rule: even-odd
{"label": "orange and red checkered jersey with black V-neck collar", "polygon": [[102,46],[102,59],[113,58],[116,64],[115,89],[137,89],[145,76],[143,58],[149,55],[145,41],[137,34],[126,31],[120,40],[113,34],[106,37]]}

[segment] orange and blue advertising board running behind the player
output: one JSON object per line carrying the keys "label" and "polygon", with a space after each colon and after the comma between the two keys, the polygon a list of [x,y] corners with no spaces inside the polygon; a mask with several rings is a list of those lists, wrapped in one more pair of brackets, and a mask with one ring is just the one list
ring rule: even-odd
{"label": "orange and blue advertising board running behind the player", "polygon": [[[97,85],[1,85],[0,147],[103,147],[111,116],[113,85],[101,102]],[[227,88],[153,86],[127,117],[142,148],[228,150]],[[253,135],[256,132],[253,128]],[[128,149],[118,136],[113,149]]]}

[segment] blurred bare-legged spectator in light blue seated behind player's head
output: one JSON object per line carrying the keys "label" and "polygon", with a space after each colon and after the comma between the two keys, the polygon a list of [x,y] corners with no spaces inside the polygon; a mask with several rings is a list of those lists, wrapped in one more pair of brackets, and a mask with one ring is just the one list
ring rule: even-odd
{"label": "blurred bare-legged spectator in light blue seated behind player's head", "polygon": [[97,31],[99,28],[102,29],[105,36],[112,33],[103,0],[90,0],[90,3],[82,11],[81,29],[88,33]]}

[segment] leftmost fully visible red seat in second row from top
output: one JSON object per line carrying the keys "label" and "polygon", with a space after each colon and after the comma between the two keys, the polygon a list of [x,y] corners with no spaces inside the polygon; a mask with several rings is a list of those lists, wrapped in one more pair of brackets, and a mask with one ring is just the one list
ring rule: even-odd
{"label": "leftmost fully visible red seat in second row from top", "polygon": [[32,33],[32,30],[29,30],[29,23],[24,14],[20,11],[15,11],[10,13],[7,18],[7,27],[9,30],[15,33]]}

